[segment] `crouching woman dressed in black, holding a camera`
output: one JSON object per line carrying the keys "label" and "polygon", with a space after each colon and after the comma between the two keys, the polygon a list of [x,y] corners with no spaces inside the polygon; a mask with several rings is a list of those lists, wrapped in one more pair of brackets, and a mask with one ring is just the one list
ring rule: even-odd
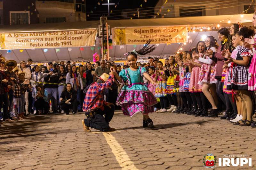
{"label": "crouching woman dressed in black, holding a camera", "polygon": [[69,114],[69,109],[72,109],[72,114],[76,114],[77,105],[79,102],[76,98],[76,90],[71,86],[71,83],[67,83],[60,95],[60,108],[65,111],[66,115]]}

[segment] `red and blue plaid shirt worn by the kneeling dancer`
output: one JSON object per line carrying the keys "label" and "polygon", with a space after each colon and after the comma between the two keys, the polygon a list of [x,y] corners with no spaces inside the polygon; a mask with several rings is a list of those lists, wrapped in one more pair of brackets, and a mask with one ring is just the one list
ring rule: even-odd
{"label": "red and blue plaid shirt worn by the kneeling dancer", "polygon": [[112,84],[114,83],[114,75],[110,75],[108,77],[108,80],[105,83],[93,83],[84,99],[84,104],[83,104],[83,110],[89,110],[89,109],[101,109],[104,110],[103,105],[106,104],[106,102],[103,100],[103,91],[108,89]]}

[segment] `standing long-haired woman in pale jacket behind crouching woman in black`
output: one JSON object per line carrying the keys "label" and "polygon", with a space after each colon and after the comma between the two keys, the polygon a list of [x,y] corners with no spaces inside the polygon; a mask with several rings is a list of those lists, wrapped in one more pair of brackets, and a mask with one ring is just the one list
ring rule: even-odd
{"label": "standing long-haired woman in pale jacket behind crouching woman in black", "polygon": [[[72,65],[69,73],[67,74],[66,83],[70,83],[72,88],[76,91],[77,101],[80,101],[80,92],[84,89],[80,73],[76,71],[76,66]],[[82,111],[82,105],[79,103],[77,106],[79,112]]]}

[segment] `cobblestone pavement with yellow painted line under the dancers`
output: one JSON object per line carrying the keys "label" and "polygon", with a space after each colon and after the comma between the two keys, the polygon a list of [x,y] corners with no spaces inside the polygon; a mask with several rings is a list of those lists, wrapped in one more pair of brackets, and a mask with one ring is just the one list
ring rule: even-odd
{"label": "cobblestone pavement with yellow painted line under the dancers", "polygon": [[[206,169],[213,153],[214,169],[256,169],[256,128],[234,126],[220,118],[152,113],[155,128],[142,127],[142,115],[116,111],[110,126],[86,133],[76,115],[29,116],[0,127],[0,169]],[[252,166],[219,167],[226,154],[247,155]]]}

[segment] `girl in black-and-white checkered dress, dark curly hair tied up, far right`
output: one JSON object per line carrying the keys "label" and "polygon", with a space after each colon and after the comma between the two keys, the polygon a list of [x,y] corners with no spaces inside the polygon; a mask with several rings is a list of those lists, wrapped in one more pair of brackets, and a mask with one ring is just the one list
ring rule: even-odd
{"label": "girl in black-and-white checkered dress, dark curly hair tied up, far right", "polygon": [[241,96],[243,103],[243,118],[234,123],[234,125],[250,126],[252,121],[252,98],[248,91],[248,76],[249,76],[249,66],[251,61],[251,54],[248,48],[242,46],[245,38],[250,38],[254,34],[254,31],[248,27],[242,27],[238,32],[236,32],[236,45],[237,57],[236,60],[228,57],[226,63],[233,62],[231,64],[231,74],[228,75],[228,90],[237,90]]}

